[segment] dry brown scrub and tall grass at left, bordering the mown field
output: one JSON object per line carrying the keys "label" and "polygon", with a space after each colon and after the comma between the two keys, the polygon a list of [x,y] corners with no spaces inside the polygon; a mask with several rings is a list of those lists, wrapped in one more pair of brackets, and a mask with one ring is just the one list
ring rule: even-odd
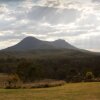
{"label": "dry brown scrub and tall grass at left, bordering the mown field", "polygon": [[45,79],[45,80],[38,80],[34,82],[24,83],[19,79],[19,77],[16,74],[0,75],[0,88],[5,88],[5,89],[48,88],[48,87],[62,86],[65,83],[66,82],[63,80],[53,80],[53,79]]}

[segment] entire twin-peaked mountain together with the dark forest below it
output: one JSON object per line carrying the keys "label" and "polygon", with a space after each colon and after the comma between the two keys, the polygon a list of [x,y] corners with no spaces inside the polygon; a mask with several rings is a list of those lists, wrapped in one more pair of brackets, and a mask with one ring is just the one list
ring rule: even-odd
{"label": "entire twin-peaked mountain together with the dark forest below it", "polygon": [[83,81],[87,72],[100,77],[100,53],[74,47],[65,40],[53,42],[26,37],[0,51],[0,72],[16,73],[22,81],[57,79]]}

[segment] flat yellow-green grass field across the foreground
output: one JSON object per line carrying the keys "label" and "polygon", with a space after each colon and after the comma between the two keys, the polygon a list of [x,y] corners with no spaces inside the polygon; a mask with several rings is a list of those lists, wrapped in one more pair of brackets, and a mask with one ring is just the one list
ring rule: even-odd
{"label": "flat yellow-green grass field across the foreground", "polygon": [[0,89],[0,100],[100,100],[100,83],[69,83],[40,89]]}

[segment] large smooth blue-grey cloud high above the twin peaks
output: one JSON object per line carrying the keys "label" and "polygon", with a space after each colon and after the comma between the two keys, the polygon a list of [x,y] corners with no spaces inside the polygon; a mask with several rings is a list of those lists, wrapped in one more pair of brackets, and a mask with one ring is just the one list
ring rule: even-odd
{"label": "large smooth blue-grey cloud high above the twin peaks", "polygon": [[80,16],[75,9],[59,9],[35,6],[28,13],[28,18],[35,21],[46,21],[51,24],[70,23]]}

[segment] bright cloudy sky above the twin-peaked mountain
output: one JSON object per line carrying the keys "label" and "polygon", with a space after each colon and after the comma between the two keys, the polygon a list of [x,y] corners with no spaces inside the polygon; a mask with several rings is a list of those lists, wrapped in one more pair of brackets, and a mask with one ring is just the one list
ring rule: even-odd
{"label": "bright cloudy sky above the twin-peaked mountain", "polygon": [[27,36],[100,52],[100,0],[0,0],[0,49]]}

